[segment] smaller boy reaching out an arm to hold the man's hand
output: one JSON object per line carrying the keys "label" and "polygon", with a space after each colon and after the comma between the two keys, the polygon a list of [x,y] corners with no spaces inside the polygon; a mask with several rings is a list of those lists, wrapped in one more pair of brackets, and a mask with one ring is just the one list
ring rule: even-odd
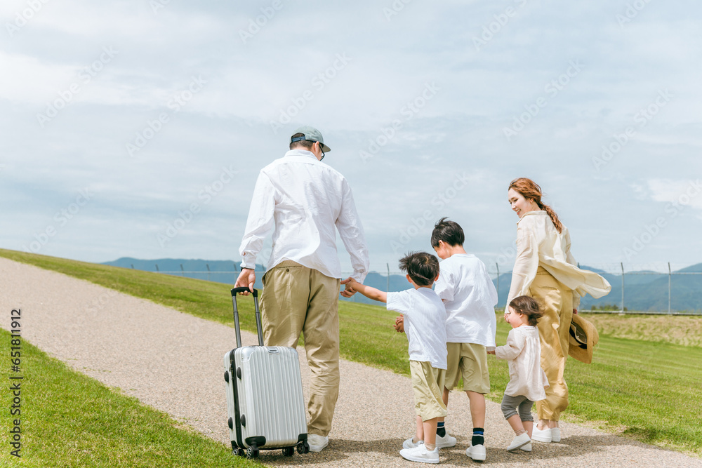
{"label": "smaller boy reaching out an arm to hold the man's hand", "polygon": [[417,432],[413,439],[404,441],[399,454],[413,462],[438,463],[437,420],[446,416],[446,405],[442,401],[446,372],[446,309],[432,290],[439,277],[439,261],[428,253],[410,253],[399,261],[399,267],[406,272],[413,289],[383,293],[352,278],[341,283],[347,290],[387,302],[388,310],[404,314]]}

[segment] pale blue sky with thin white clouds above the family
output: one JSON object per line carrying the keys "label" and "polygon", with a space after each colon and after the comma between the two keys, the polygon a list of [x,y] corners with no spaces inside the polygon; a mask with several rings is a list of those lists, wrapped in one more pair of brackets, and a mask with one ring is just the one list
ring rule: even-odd
{"label": "pale blue sky with thin white clouds above the family", "polygon": [[584,264],[702,262],[700,13],[656,0],[5,1],[0,247],[238,261],[258,171],[309,124],[354,190],[371,269],[430,250],[442,216],[511,269],[519,176],[544,189]]}

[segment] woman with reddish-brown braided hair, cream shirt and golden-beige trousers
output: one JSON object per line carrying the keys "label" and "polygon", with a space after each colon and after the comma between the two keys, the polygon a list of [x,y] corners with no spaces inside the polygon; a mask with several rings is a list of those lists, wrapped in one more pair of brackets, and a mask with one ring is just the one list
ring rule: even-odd
{"label": "woman with reddish-brown braided hair, cream shirt and golden-beige trousers", "polygon": [[[599,274],[579,269],[570,253],[570,234],[555,211],[541,201],[541,187],[527,178],[512,180],[508,190],[517,222],[517,260],[507,299],[534,297],[543,309],[538,323],[541,368],[548,378],[546,399],[536,402],[538,424],[532,439],[558,442],[558,420],[568,406],[568,387],[563,370],[568,357],[571,317],[577,314],[581,296],[602,297],[611,286]],[[506,310],[506,308],[505,308]],[[505,314],[506,319],[506,314]]]}

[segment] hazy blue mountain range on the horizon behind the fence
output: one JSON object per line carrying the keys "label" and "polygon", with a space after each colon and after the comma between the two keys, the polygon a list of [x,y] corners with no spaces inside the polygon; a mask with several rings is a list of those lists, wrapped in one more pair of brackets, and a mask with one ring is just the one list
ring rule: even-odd
{"label": "hazy blue mountain range on the horizon behind the fence", "polygon": [[[223,261],[223,260],[185,260],[174,258],[161,258],[157,260],[138,260],[135,258],[120,258],[114,262],[105,262],[104,265],[113,265],[115,267],[134,268],[147,272],[170,272],[176,276],[186,276],[189,278],[204,279],[208,281],[218,281],[220,283],[234,284],[237,276],[239,276],[239,262]],[[181,265],[185,272],[181,272]],[[210,272],[208,274],[207,267]],[[609,295],[594,299],[585,296],[581,300],[581,309],[589,309],[592,306],[603,307],[605,305],[621,306],[621,275],[609,274],[600,269],[590,268],[585,265],[583,269],[588,269],[604,276],[612,286]],[[263,276],[263,266],[256,265],[256,287],[261,288],[260,279]],[[675,273],[701,273],[702,263],[692,265],[677,272],[673,272],[671,281],[672,299],[671,309],[675,311],[687,310],[696,311],[702,310],[702,274],[675,274]],[[497,279],[493,282],[498,286]],[[370,272],[364,281],[373,288],[387,291],[399,291],[409,287],[409,283],[404,275],[391,274],[390,281],[386,274],[378,272]],[[499,278],[498,288],[498,307],[504,307],[507,302],[507,296],[510,292],[510,284],[512,283],[512,273],[504,273]],[[389,284],[389,287],[388,287]],[[631,311],[667,311],[668,310],[668,274],[657,272],[626,272],[624,275],[624,306]],[[376,304],[373,300],[356,294],[350,299],[341,298],[351,302],[362,302],[365,304]]]}

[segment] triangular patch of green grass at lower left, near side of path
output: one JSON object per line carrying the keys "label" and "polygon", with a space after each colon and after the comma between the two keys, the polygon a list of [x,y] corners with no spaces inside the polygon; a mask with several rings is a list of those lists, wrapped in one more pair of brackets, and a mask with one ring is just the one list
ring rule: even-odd
{"label": "triangular patch of green grass at lower left, near side of path", "polygon": [[[11,335],[0,328],[2,431],[0,466],[11,467],[262,467],[223,443],[178,424],[166,413],[77,373],[22,340],[21,415],[10,415]],[[8,431],[20,417],[21,459]]]}

